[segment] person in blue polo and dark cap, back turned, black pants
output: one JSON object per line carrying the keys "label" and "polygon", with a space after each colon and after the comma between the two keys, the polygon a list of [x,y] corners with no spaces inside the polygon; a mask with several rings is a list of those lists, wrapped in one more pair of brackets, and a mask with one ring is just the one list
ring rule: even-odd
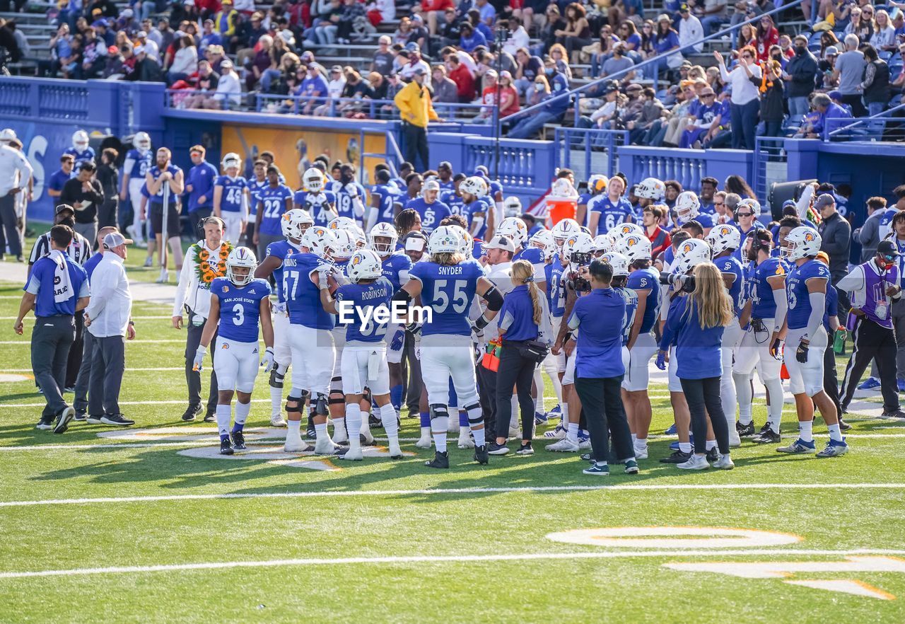
{"label": "person in blue polo and dark cap, back turned, black pants", "polygon": [[[575,302],[568,327],[576,331],[575,389],[591,434],[591,466],[586,475],[609,475],[609,438],[625,472],[638,473],[632,434],[622,403],[625,373],[622,360],[624,297],[610,285],[613,267],[594,260],[589,269],[591,292]],[[502,367],[500,367],[501,370]]]}

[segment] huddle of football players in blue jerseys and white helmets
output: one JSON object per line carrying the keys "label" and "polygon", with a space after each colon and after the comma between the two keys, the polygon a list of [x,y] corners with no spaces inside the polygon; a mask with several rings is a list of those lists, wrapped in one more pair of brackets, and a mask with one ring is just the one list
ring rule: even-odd
{"label": "huddle of football players in blue jerseys and white helmets", "polygon": [[[227,155],[224,167],[235,178],[239,157]],[[537,424],[560,419],[544,434],[551,438],[547,449],[578,453],[588,448],[575,389],[576,360],[583,346],[590,349],[579,332],[594,328],[586,330],[583,323],[578,329],[573,317],[576,303],[592,293],[595,266],[601,262],[624,299],[619,391],[633,446],[611,454],[611,464],[637,473],[636,460],[648,457],[652,366],[668,371],[675,415],[671,432],[678,437],[662,462],[686,469],[711,463],[731,468],[729,447],[739,446],[741,438],[779,444],[786,373],[799,436],[777,450],[818,457],[848,450],[842,436],[848,426],[824,392],[828,336],[838,326],[835,293],[820,256],[820,235],[804,219],[786,216],[771,232],[757,221],[757,200],[744,199],[735,212],[739,223],[726,222],[702,209],[692,191],[682,192],[667,208],[666,186],[655,178],[634,187],[638,206],[633,208],[623,197],[623,177],[595,175],[580,200],[586,209],[547,229],[524,218],[518,198],[503,199],[499,183],[482,168],[454,181],[448,175],[428,177],[407,203],[389,168],[377,168],[369,210],[363,189],[348,189],[357,183],[329,178],[326,168],[306,170],[303,188],[291,201],[279,189],[286,188],[278,181],[279,169],[271,165],[265,173],[270,180],[256,200],[259,224],[262,217],[276,217],[281,238],[266,245],[260,262],[245,246],[229,254],[225,276],[211,283],[211,313],[195,354],[195,370],[200,370],[206,351],[215,353],[216,421],[224,455],[246,450],[243,425],[263,365],[270,372],[271,424],[288,427],[286,452],[308,451],[313,440],[317,455],[361,460],[362,446],[374,443],[375,426],[384,429],[389,456],[401,458],[403,360],[410,343],[424,383],[416,446],[435,450],[426,466],[449,466],[449,434],[458,434],[460,448],[473,448],[479,464],[487,464],[490,455],[507,454],[511,438],[521,440],[516,453],[532,454],[534,432],[527,429],[535,423],[522,418],[519,429],[517,409],[510,418],[497,413],[485,423],[487,401],[481,396],[487,391],[481,388],[481,369],[492,366],[505,333],[501,319],[511,326],[512,315],[504,319],[505,306],[517,285],[529,285],[532,296],[541,294],[535,305],[544,318],[535,321],[540,354],[531,394],[542,406],[546,373],[557,406],[548,413],[538,408]],[[574,178],[568,183],[574,187]],[[271,189],[277,190],[268,193]],[[441,193],[449,199],[438,201]],[[347,198],[346,210],[338,210],[340,195]],[[806,189],[799,201],[806,204],[813,195]],[[643,226],[633,222],[639,217]],[[646,227],[658,222],[665,228]],[[230,225],[237,235],[238,227]],[[652,240],[662,243],[658,237],[664,229],[671,234],[670,245],[654,253]],[[711,278],[719,282],[720,297],[728,294],[731,319],[717,338],[719,405],[708,404],[706,429],[693,427],[695,439],[681,359],[687,358],[686,370],[699,366],[695,341],[708,339],[688,329],[689,323],[681,325],[680,317],[691,311],[686,301],[695,293],[711,292]],[[755,370],[767,390],[767,421],[759,430],[752,418]],[[513,396],[513,406],[517,401]],[[815,408],[829,434],[819,451],[812,431]]]}

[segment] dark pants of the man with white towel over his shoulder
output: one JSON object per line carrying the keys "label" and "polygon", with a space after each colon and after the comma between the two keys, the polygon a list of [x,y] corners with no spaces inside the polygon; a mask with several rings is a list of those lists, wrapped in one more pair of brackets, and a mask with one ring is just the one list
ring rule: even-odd
{"label": "dark pants of the man with white towel over his shoulder", "polygon": [[75,338],[75,321],[71,316],[39,316],[32,330],[32,371],[34,381],[44,394],[47,405],[41,418],[56,416],[66,401],[62,398],[66,380],[66,360]]}

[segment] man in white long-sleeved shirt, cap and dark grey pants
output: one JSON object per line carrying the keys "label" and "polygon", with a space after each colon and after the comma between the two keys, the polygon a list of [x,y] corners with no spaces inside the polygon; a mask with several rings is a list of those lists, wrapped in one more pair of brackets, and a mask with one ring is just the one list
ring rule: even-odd
{"label": "man in white long-sleeved shirt, cap and dark grey pants", "polygon": [[91,334],[91,376],[88,391],[88,422],[129,427],[135,421],[119,411],[119,388],[126,370],[126,341],[135,338],[131,321],[132,294],[126,277],[126,245],[119,232],[104,236],[103,256],[91,274],[94,296],[85,309],[85,327]]}

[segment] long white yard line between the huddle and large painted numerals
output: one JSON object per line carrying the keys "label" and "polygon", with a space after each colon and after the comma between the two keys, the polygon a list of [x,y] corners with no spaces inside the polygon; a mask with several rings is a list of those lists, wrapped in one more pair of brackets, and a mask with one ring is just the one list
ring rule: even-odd
{"label": "long white yard line between the huddle and large painted numerals", "polygon": [[0,507],[54,504],[155,503],[160,501],[214,501],[233,498],[321,498],[333,496],[411,496],[423,494],[506,494],[509,492],[599,492],[602,490],[901,490],[905,483],[876,484],[636,484],[636,485],[526,485],[524,487],[455,487],[434,490],[344,490],[327,492],[249,492],[224,494],[167,494],[156,496],[104,496],[56,498],[41,501],[0,501]]}

